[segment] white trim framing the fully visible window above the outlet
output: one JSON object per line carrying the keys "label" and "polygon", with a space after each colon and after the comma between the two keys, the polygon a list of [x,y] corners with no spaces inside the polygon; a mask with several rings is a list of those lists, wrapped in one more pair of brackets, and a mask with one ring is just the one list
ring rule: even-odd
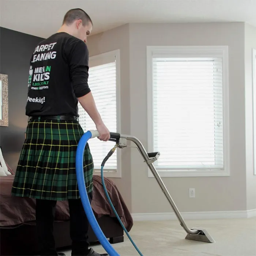
{"label": "white trim framing the fully visible window above the outlet", "polygon": [[[212,177],[230,176],[229,160],[229,66],[228,46],[147,46],[147,125],[148,152],[153,152],[153,61],[159,57],[223,57],[223,153],[224,170],[157,170],[160,177]],[[161,152],[160,156],[161,157]],[[154,177],[148,168],[148,177]]]}

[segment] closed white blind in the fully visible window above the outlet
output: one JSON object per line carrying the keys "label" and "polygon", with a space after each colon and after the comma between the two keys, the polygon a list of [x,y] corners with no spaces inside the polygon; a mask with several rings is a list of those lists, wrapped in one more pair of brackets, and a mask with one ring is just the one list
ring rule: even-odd
{"label": "closed white blind in the fully visible window above the outlet", "polygon": [[223,169],[221,57],[153,57],[153,150],[159,170]]}

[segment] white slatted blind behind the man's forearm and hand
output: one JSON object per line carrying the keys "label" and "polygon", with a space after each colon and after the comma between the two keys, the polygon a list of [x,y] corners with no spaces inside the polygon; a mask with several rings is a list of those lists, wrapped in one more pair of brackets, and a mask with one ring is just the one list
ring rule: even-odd
{"label": "white slatted blind behind the man's forearm and hand", "polygon": [[[106,61],[105,61],[106,62]],[[116,61],[90,67],[88,84],[93,94],[95,104],[106,127],[111,132],[117,132],[117,109],[116,109]],[[79,123],[84,132],[95,130],[95,124],[85,112],[80,103]],[[89,147],[94,161],[94,169],[100,169],[101,163],[109,150],[114,146],[113,142],[101,142],[98,138],[89,140]],[[116,151],[108,159],[104,170],[117,169]]]}

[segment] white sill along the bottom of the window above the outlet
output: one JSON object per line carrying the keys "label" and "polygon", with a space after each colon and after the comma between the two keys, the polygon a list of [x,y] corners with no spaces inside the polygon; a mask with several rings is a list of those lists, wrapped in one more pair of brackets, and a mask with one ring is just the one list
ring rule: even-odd
{"label": "white sill along the bottom of the window above the outlet", "polygon": [[[157,170],[160,177],[227,177],[230,176],[229,170],[200,171],[200,170]],[[148,169],[148,178],[154,175]]]}

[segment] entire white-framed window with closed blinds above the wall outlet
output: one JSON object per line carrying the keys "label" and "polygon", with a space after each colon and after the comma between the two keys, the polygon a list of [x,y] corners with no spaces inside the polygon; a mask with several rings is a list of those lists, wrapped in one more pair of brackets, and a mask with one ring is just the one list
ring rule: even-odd
{"label": "entire white-framed window with closed blinds above the wall outlet", "polygon": [[227,59],[227,47],[147,47],[148,151],[160,152],[161,177],[229,175]]}

